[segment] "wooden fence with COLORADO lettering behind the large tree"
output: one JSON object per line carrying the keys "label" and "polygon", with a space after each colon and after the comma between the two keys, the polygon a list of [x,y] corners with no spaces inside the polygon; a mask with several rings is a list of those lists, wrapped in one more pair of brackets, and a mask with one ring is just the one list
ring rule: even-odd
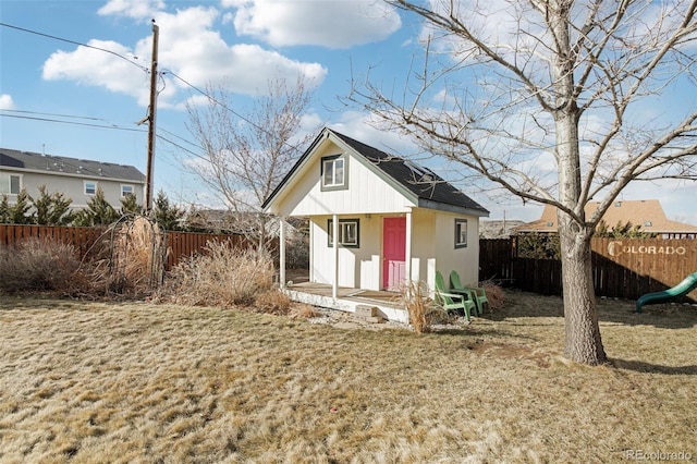
{"label": "wooden fence with COLORADO lettering behind the large tree", "polygon": [[[596,295],[636,300],[676,285],[697,271],[697,240],[592,239]],[[562,266],[555,259],[521,258],[516,240],[479,242],[479,278],[519,290],[562,294]],[[697,301],[697,290],[688,294]]]}

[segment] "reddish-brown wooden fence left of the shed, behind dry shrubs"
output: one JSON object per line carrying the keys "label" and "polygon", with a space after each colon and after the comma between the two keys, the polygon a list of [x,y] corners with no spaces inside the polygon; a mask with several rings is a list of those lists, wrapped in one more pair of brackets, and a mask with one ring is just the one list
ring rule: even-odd
{"label": "reddish-brown wooden fence left of the shed, behind dry shrubs", "polygon": [[[110,230],[106,228],[74,228],[51,225],[0,224],[0,245],[14,245],[27,239],[54,240],[72,245],[78,257],[85,257],[101,240],[109,240]],[[182,258],[200,253],[208,241],[230,242],[235,247],[250,245],[242,235],[222,235],[197,232],[168,232],[167,270]]]}

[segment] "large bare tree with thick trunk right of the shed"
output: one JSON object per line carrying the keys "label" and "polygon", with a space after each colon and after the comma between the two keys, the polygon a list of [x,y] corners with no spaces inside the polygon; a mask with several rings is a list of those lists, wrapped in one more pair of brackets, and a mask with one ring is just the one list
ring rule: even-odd
{"label": "large bare tree with thick trunk right of the shed", "polygon": [[696,178],[695,99],[647,114],[678,84],[695,95],[697,1],[387,1],[423,20],[424,66],[403,96],[368,77],[350,100],[462,172],[558,208],[565,355],[604,363],[590,239],[629,182]]}

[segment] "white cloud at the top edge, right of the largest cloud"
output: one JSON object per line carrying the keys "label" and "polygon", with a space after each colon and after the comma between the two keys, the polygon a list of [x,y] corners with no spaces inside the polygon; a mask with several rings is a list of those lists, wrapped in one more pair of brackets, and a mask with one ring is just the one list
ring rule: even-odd
{"label": "white cloud at the top edge, right of the largest cloud", "polygon": [[396,11],[378,0],[222,0],[235,8],[237,34],[274,47],[348,48],[379,41],[402,26]]}

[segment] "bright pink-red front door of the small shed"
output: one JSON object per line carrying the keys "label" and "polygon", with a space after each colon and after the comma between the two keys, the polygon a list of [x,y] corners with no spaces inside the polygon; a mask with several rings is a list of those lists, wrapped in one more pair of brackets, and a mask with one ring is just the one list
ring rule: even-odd
{"label": "bright pink-red front door of the small shed", "polygon": [[382,221],[382,288],[399,290],[406,279],[406,219]]}

